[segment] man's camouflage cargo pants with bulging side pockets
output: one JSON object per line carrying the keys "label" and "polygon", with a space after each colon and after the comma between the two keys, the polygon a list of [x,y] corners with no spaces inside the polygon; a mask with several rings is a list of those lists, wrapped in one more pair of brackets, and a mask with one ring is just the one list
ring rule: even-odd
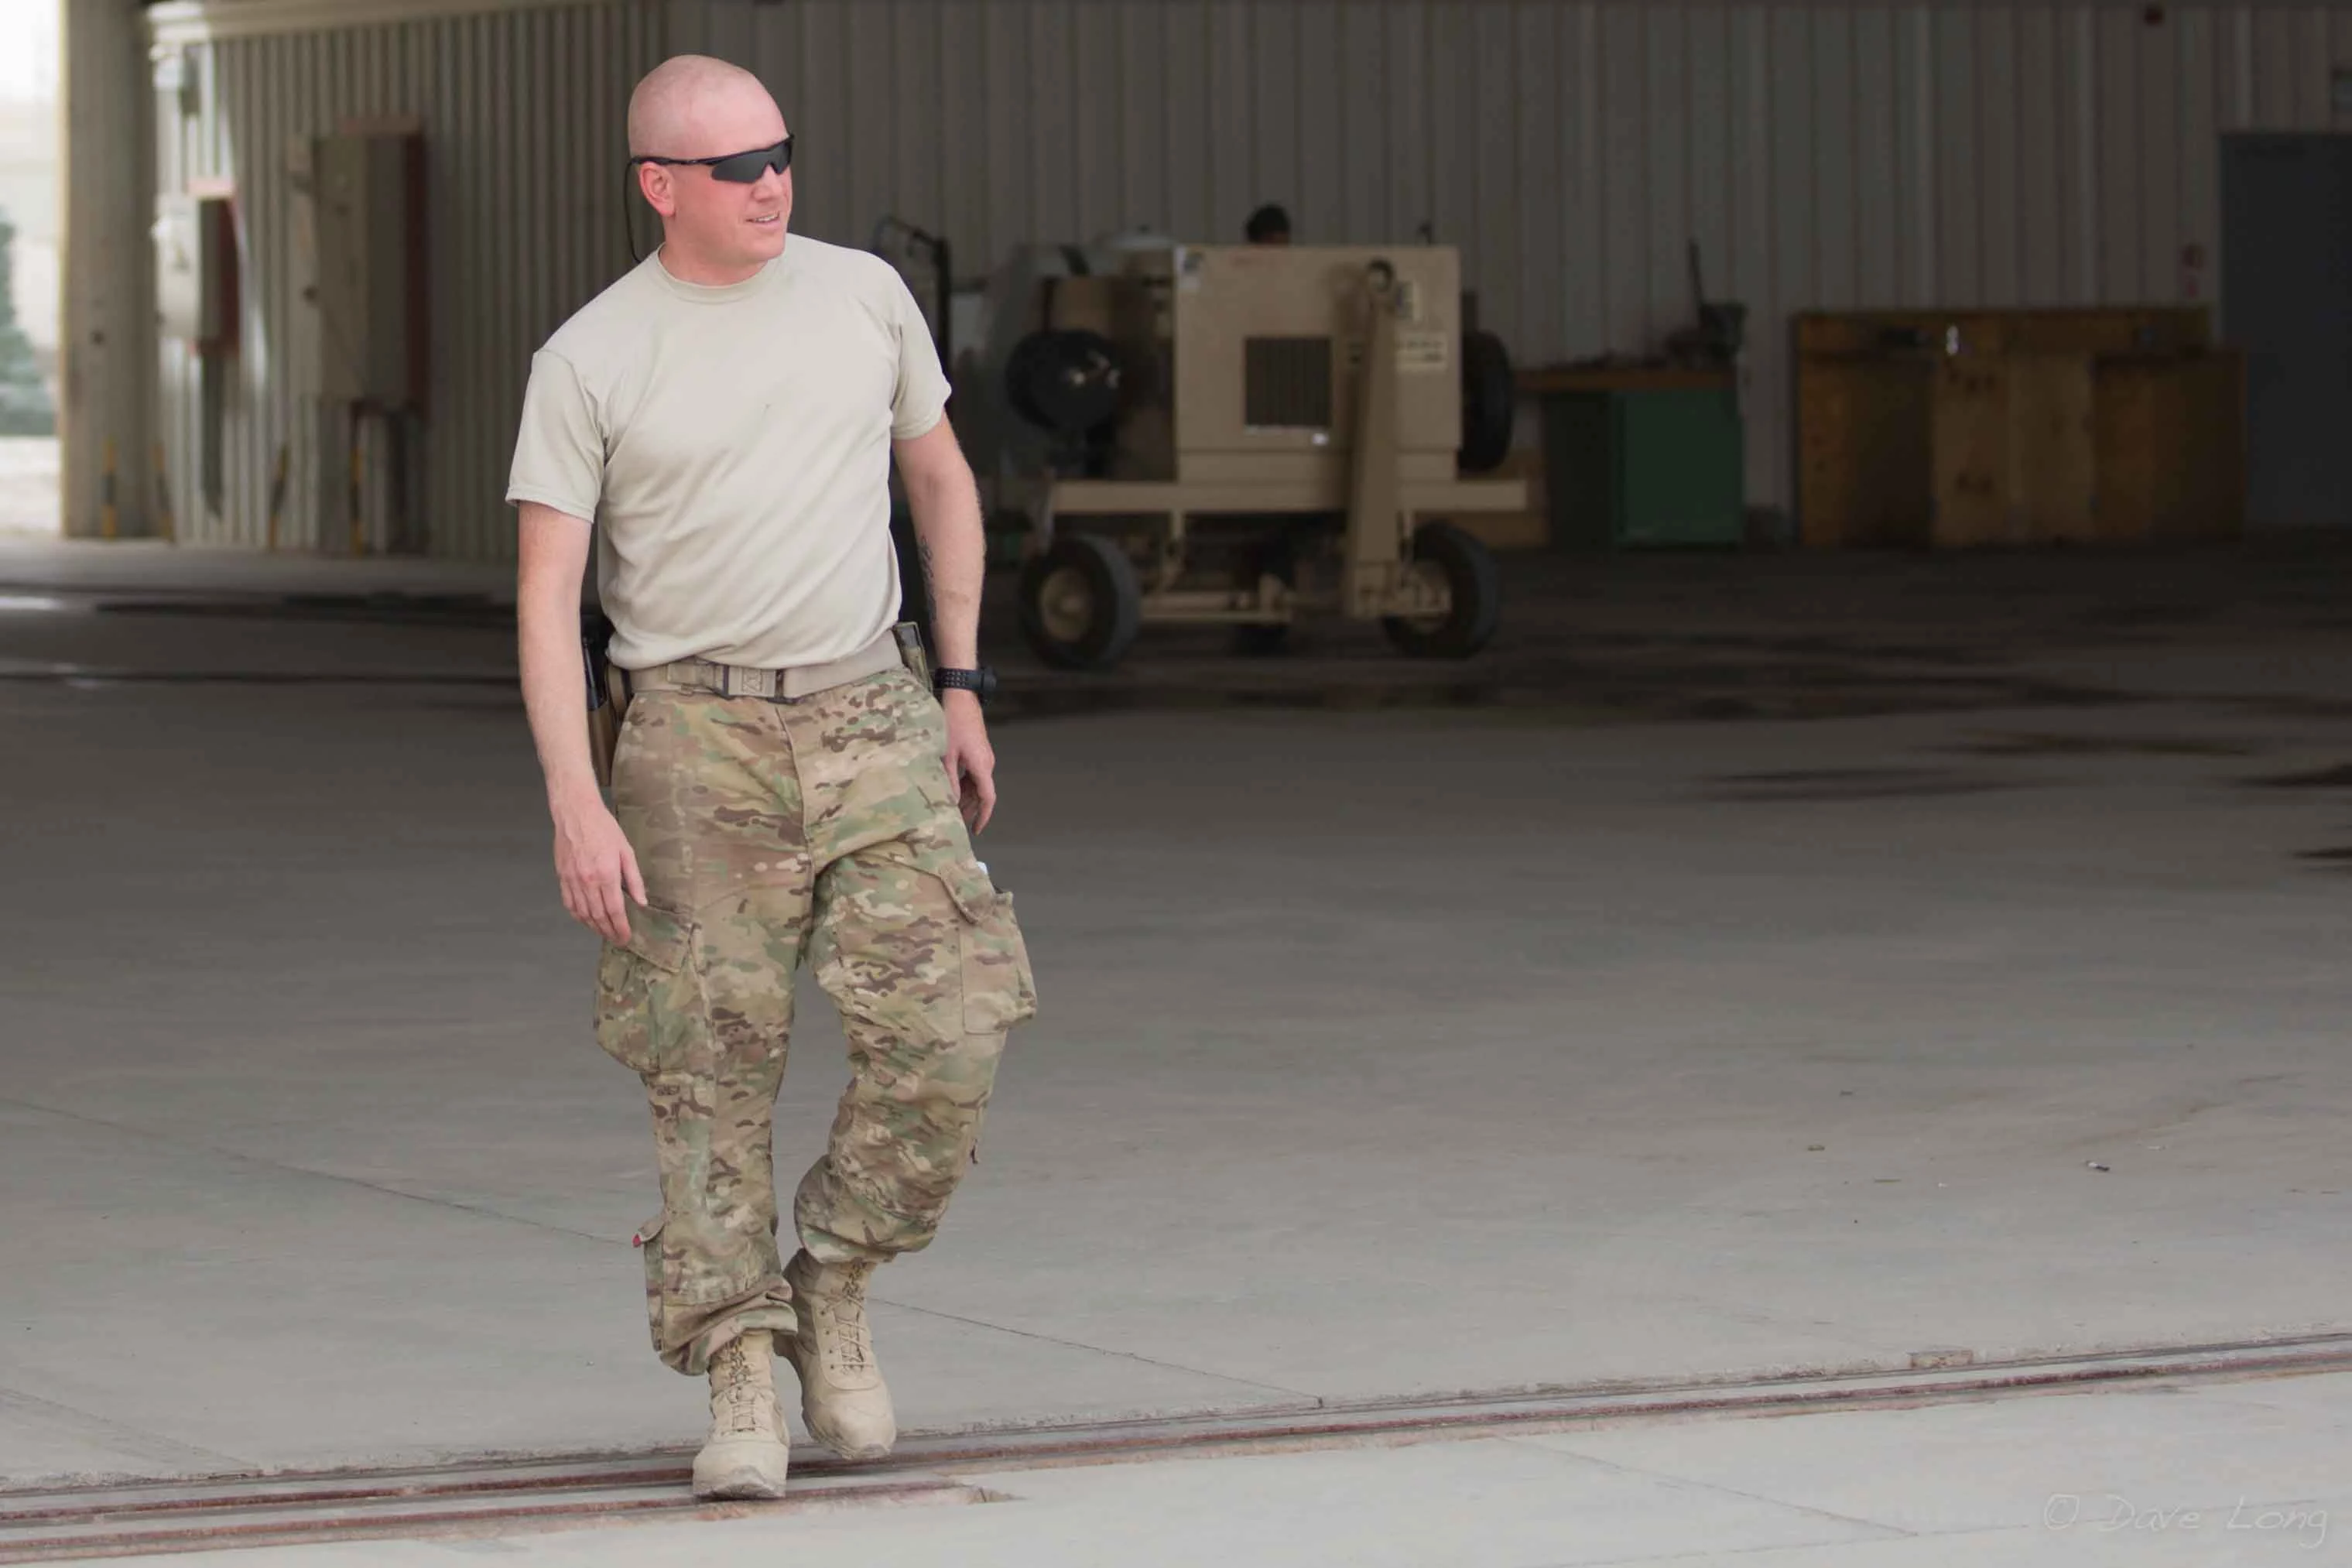
{"label": "man's camouflage cargo pants with bulging side pockets", "polygon": [[649,907],[597,964],[597,1044],[654,1107],[661,1218],[637,1232],[654,1349],[701,1375],[734,1335],[793,1328],[771,1114],[800,961],[851,1063],[793,1201],[821,1262],[931,1241],[1037,994],[1014,900],[948,792],[946,715],[903,670],[800,701],[642,691],[614,813]]}

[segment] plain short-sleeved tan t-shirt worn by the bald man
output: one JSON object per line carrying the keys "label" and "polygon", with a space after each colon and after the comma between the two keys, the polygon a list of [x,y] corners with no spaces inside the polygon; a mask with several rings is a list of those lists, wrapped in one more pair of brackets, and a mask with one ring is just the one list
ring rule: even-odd
{"label": "plain short-sleeved tan t-shirt worn by the bald man", "polygon": [[623,670],[828,663],[898,611],[891,440],[946,402],[880,256],[790,235],[757,277],[706,287],[654,252],[532,355],[506,498],[595,522]]}

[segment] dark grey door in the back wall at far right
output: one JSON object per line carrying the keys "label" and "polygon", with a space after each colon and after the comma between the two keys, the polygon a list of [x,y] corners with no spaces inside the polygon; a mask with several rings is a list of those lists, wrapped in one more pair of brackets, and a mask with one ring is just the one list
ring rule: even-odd
{"label": "dark grey door in the back wall at far right", "polygon": [[2220,209],[2246,524],[2352,527],[2352,136],[2223,136]]}

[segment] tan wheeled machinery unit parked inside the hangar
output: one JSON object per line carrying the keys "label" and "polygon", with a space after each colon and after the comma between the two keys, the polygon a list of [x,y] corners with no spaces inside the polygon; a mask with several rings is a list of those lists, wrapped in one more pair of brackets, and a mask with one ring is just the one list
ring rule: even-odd
{"label": "tan wheeled machinery unit parked inside the hangar", "polygon": [[1494,635],[1494,557],[1444,517],[1526,487],[1472,477],[1510,447],[1510,362],[1463,334],[1451,247],[1023,252],[990,308],[976,456],[1030,520],[1047,661],[1108,668],[1148,621],[1270,651],[1303,611],[1421,656]]}

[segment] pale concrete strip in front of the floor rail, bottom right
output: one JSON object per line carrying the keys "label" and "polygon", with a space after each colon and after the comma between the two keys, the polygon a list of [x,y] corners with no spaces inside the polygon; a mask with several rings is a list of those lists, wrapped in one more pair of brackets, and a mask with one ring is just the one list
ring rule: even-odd
{"label": "pale concrete strip in front of the floor rail, bottom right", "polygon": [[[2352,1378],[964,1474],[990,1502],[270,1547],[216,1568],[2249,1568],[2345,1559]],[[183,1563],[188,1559],[127,1559]]]}

